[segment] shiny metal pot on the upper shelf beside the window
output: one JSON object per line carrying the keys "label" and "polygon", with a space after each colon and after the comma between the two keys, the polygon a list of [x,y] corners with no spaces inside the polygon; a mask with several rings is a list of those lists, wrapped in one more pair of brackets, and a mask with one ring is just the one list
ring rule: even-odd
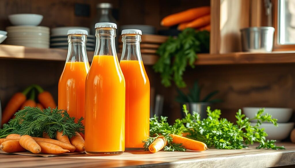
{"label": "shiny metal pot on the upper shelf beside the window", "polygon": [[242,50],[271,52],[273,50],[273,27],[248,27],[241,29]]}

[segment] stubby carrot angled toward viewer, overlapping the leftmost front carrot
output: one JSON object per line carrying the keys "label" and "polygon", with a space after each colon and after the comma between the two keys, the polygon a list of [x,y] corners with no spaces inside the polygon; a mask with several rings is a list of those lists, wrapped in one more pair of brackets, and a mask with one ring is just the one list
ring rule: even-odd
{"label": "stubby carrot angled toward viewer, overlapping the leftmost front carrot", "polygon": [[41,147],[30,135],[23,135],[19,139],[19,144],[28,151],[38,154],[41,152]]}

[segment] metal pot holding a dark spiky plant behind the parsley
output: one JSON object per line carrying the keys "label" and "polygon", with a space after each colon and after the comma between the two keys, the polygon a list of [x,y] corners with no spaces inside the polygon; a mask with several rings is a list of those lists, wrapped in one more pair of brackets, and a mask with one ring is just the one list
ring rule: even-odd
{"label": "metal pot holding a dark spiky plant behind the parsley", "polygon": [[[193,114],[193,112],[197,112],[200,114],[201,119],[207,118],[207,107],[212,105],[212,103],[207,103],[207,102],[204,102],[204,103],[189,102],[184,104],[186,104],[186,109],[189,111],[189,113]],[[182,106],[181,106],[181,112],[182,112],[182,117],[184,117],[185,114],[182,110]]]}

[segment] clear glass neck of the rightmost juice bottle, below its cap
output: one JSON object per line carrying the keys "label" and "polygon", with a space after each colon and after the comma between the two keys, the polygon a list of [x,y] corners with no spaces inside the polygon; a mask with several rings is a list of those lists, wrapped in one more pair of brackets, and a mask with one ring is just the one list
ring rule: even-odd
{"label": "clear glass neck of the rightmost juice bottle, below its cap", "polygon": [[141,36],[139,34],[124,34],[121,60],[142,61],[140,53]]}

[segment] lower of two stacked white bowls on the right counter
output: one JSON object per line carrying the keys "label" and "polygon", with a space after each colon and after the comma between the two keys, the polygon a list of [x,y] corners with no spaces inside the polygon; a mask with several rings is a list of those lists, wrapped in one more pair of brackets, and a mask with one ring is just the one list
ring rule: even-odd
{"label": "lower of two stacked white bowls on the right counter", "polygon": [[[256,123],[251,123],[251,125],[255,124]],[[266,139],[281,141],[289,136],[294,128],[294,122],[278,123],[278,127],[275,127],[273,123],[262,123],[260,128],[265,128],[264,131],[268,134]]]}

